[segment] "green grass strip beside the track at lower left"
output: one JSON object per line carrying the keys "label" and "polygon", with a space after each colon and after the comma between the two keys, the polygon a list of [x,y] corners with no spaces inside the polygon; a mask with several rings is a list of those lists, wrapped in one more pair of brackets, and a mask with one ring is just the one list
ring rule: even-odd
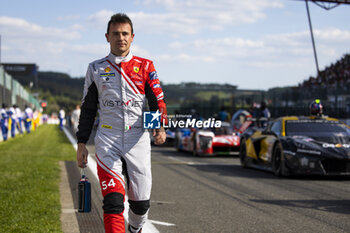
{"label": "green grass strip beside the track at lower left", "polygon": [[74,159],[57,125],[0,142],[0,232],[62,232],[58,161]]}

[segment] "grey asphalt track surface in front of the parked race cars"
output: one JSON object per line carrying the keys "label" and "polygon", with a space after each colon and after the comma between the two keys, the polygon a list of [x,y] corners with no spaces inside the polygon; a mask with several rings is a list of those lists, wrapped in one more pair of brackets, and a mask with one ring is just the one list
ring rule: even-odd
{"label": "grey asphalt track surface in front of the parked race cars", "polygon": [[350,232],[349,177],[278,178],[238,157],[158,146],[152,173],[149,220],[161,233]]}

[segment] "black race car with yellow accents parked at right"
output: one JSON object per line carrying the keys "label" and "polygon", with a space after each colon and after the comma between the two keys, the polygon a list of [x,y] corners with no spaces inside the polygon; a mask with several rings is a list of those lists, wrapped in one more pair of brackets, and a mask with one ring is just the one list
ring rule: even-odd
{"label": "black race car with yellow accents parked at right", "polygon": [[334,118],[281,117],[241,135],[243,167],[275,175],[350,175],[350,128]]}

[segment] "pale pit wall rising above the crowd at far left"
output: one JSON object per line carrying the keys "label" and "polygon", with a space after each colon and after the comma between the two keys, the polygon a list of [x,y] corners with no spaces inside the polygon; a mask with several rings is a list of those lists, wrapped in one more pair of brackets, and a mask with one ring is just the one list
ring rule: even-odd
{"label": "pale pit wall rising above the crowd at far left", "polygon": [[40,108],[39,101],[11,75],[6,73],[4,67],[0,65],[0,104],[3,103],[7,106],[16,104],[21,109],[24,109],[25,105],[36,109]]}

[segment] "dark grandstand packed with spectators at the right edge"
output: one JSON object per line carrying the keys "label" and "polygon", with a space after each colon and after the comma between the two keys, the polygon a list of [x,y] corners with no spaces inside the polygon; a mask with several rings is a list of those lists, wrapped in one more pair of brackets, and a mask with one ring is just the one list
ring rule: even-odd
{"label": "dark grandstand packed with spectators at the right edge", "polygon": [[269,89],[266,98],[273,116],[307,115],[309,105],[321,99],[327,115],[337,118],[350,116],[350,54],[321,70],[316,77],[309,77],[290,87]]}

